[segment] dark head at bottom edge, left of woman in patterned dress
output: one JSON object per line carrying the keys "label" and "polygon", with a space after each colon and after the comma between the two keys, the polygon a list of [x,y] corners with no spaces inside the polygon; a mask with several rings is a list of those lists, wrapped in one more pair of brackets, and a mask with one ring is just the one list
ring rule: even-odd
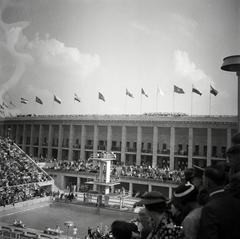
{"label": "dark head at bottom edge, left of woman in patterned dress", "polygon": [[116,239],[131,239],[132,228],[129,222],[116,220],[111,225],[111,232]]}

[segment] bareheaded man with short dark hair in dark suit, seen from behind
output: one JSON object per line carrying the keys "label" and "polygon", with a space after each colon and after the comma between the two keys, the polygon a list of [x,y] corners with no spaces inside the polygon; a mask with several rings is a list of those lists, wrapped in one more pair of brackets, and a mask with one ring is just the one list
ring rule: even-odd
{"label": "bareheaded man with short dark hair in dark suit, seen from behind", "polygon": [[203,176],[209,201],[203,206],[201,238],[240,238],[240,201],[224,191],[226,173],[220,166],[209,166]]}

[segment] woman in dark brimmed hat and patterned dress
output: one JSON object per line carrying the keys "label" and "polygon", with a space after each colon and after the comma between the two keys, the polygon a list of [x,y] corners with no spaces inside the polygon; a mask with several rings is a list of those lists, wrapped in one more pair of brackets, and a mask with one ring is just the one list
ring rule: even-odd
{"label": "woman in dark brimmed hat and patterned dress", "polygon": [[182,239],[181,227],[176,227],[167,211],[167,198],[162,193],[152,191],[142,196],[142,200],[135,204],[145,206],[146,213],[151,218],[152,231],[148,239],[174,238]]}

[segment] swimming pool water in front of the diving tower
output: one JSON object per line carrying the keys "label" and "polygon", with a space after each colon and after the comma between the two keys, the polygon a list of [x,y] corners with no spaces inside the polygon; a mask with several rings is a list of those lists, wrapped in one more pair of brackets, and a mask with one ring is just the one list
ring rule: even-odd
{"label": "swimming pool water in front of the diving tower", "polygon": [[[104,229],[114,220],[129,221],[136,217],[136,214],[129,212],[120,212],[109,209],[97,209],[94,207],[73,205],[68,203],[51,203],[45,205],[36,205],[35,208],[23,208],[13,212],[1,215],[0,222],[12,224],[15,219],[21,219],[26,227],[44,230],[50,227],[55,229],[58,225],[63,235],[67,235],[67,227],[64,226],[65,221],[72,221],[77,227],[77,238],[84,238],[87,235],[87,228],[90,226],[93,230],[97,226]],[[72,237],[73,227],[69,228],[69,237]]]}

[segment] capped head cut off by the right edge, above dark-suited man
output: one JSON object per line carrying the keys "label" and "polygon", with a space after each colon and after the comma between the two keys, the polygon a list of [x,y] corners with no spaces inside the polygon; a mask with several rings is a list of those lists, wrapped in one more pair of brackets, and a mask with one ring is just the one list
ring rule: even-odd
{"label": "capped head cut off by the right edge, above dark-suited man", "polygon": [[227,150],[227,158],[233,173],[240,171],[240,144],[235,144]]}

